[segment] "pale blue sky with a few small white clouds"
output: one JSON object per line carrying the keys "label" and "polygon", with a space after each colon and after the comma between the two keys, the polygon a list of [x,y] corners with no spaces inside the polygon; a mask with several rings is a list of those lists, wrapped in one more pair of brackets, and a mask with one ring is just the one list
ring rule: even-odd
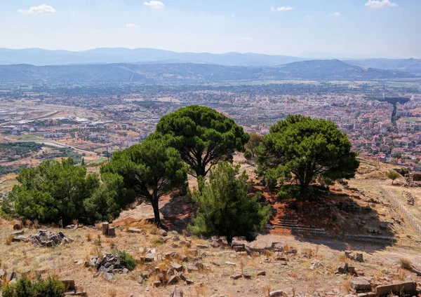
{"label": "pale blue sky with a few small white clouds", "polygon": [[0,48],[421,57],[421,0],[0,0]]}

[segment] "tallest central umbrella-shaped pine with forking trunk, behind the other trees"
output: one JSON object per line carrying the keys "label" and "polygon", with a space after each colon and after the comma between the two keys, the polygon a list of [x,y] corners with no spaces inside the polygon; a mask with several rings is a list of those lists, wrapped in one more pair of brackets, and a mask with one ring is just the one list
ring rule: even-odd
{"label": "tallest central umbrella-shaped pine with forking trunk, behind the other trees", "polygon": [[234,120],[199,105],[163,116],[156,132],[172,136],[169,144],[180,152],[194,177],[205,177],[213,165],[232,160],[232,153],[243,151],[248,141],[248,134]]}

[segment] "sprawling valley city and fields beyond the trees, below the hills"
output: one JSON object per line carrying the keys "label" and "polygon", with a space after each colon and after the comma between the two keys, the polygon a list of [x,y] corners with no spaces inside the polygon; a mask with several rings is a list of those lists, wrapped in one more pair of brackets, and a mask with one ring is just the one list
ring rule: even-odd
{"label": "sprawling valley city and fields beyond the trees, below the hills", "polygon": [[[388,100],[388,99],[392,99]],[[72,156],[103,163],[141,142],[159,119],[190,104],[220,111],[246,132],[267,134],[288,114],[332,120],[360,156],[421,171],[421,87],[403,81],[254,81],[207,85],[0,85],[1,174]],[[396,110],[394,111],[394,107]]]}

